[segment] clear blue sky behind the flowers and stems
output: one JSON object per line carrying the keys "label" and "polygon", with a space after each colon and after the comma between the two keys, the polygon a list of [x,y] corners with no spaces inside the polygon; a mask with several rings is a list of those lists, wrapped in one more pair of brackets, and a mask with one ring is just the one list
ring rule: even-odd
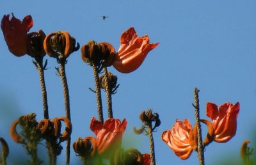
{"label": "clear blue sky behind the flowers and stems", "polygon": [[[151,108],[159,113],[161,126],[154,133],[157,164],[198,164],[196,152],[182,161],[160,138],[176,118],[188,118],[195,123],[191,106],[195,87],[200,90],[201,118],[209,119],[205,116],[207,102],[218,105],[239,102],[241,105],[236,136],[228,143],[207,146],[205,164],[218,164],[217,160],[229,154],[239,160],[244,139],[256,143],[253,141],[256,124],[256,1],[1,0],[0,16],[12,12],[18,19],[25,15],[33,17],[34,26],[30,31],[43,29],[49,34],[65,30],[80,45],[89,40],[109,42],[117,51],[122,31],[130,27],[134,27],[139,36],[148,34],[150,42],[159,42],[141,67],[131,74],[121,74],[115,68],[109,68],[120,83],[118,92],[113,95],[114,118],[128,120],[125,146],[136,147],[141,153],[149,152],[148,137],[133,134],[132,127],[141,126],[141,111]],[[108,18],[102,20],[102,15]],[[10,145],[8,162],[11,162],[24,150],[10,139],[10,124],[20,115],[32,112],[41,120],[42,98],[38,71],[31,57],[13,56],[2,34],[0,52],[0,136]],[[46,58],[49,115],[51,118],[64,116],[61,79],[54,69],[58,64],[55,59]],[[81,60],[80,51],[68,58],[66,71],[73,143],[78,137],[93,135],[89,123],[92,116],[97,117],[97,105],[94,93],[88,90],[94,88],[92,68]],[[106,118],[104,93],[102,97]],[[206,132],[203,127],[204,137]],[[58,157],[58,164],[65,162],[64,155]],[[78,162],[79,157],[72,151],[71,164]]]}

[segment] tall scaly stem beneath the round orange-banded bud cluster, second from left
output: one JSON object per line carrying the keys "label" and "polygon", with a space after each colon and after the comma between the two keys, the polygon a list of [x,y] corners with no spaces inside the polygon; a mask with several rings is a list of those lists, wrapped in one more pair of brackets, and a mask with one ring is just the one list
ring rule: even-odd
{"label": "tall scaly stem beneath the round orange-banded bud cluster, second from left", "polygon": [[[61,76],[61,81],[62,81],[62,85],[63,85],[66,117],[71,122],[68,83],[67,83],[67,77],[66,77],[66,72],[65,72],[65,60],[61,60],[61,62],[60,62],[60,76]],[[71,140],[71,138],[67,139],[67,145],[66,145],[66,165],[68,165],[69,162],[70,162],[70,140]]]}

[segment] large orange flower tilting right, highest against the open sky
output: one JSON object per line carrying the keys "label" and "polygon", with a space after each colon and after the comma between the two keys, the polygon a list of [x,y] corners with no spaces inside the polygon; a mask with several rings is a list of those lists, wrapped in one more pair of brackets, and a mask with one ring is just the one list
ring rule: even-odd
{"label": "large orange flower tilting right, highest against the open sky", "polygon": [[122,33],[120,43],[113,66],[122,73],[133,72],[140,67],[148,52],[158,45],[158,43],[149,43],[148,35],[139,37],[134,28],[129,28]]}

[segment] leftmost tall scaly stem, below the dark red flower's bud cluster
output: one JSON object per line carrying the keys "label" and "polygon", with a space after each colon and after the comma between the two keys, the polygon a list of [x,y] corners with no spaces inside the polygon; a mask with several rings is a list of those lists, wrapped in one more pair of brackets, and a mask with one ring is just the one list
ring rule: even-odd
{"label": "leftmost tall scaly stem, below the dark red flower's bud cluster", "polygon": [[38,63],[39,81],[40,81],[40,84],[41,84],[42,99],[43,99],[43,105],[44,105],[44,118],[49,119],[48,103],[47,103],[47,92],[46,92],[45,80],[44,80],[43,58],[40,58],[36,61]]}

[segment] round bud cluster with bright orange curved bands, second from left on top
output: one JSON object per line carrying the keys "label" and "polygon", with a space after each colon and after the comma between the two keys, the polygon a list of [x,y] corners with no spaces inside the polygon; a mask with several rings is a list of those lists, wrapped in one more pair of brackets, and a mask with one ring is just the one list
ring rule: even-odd
{"label": "round bud cluster with bright orange curved bands, second from left on top", "polygon": [[56,58],[58,62],[66,62],[68,56],[74,52],[78,51],[80,45],[76,39],[67,31],[56,31],[50,33],[45,37],[44,40],[44,50],[52,58]]}

